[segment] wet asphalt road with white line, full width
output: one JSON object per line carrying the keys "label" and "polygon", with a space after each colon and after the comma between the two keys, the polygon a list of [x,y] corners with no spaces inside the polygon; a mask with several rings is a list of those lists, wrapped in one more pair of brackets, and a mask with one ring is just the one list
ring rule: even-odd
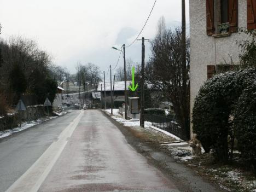
{"label": "wet asphalt road with white line, full width", "polygon": [[0,192],[178,191],[98,110],[0,140]]}

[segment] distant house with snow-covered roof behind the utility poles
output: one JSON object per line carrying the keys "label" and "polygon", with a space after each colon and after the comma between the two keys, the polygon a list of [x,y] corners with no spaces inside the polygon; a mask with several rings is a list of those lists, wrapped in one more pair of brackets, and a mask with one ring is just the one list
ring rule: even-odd
{"label": "distant house with snow-covered roof behind the utility poles", "polygon": [[[102,91],[101,91],[101,84],[102,84]],[[131,81],[127,81],[126,82],[126,90],[129,90],[128,86],[131,84]],[[110,91],[110,83],[106,83],[106,102],[110,102],[111,101],[111,91]],[[113,89],[113,82],[112,82],[112,89]],[[124,94],[124,90],[125,90],[125,82],[115,82],[115,86],[114,86],[114,92],[113,92],[113,96],[114,96],[114,100],[125,100],[125,94]],[[102,100],[105,100],[104,97],[104,83],[99,83],[98,84],[98,91],[101,92],[102,94]]]}

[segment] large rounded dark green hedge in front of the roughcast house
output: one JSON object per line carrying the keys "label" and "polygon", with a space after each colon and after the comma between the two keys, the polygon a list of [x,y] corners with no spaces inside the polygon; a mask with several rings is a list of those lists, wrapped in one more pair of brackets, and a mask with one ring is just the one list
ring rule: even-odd
{"label": "large rounded dark green hedge in front of the roughcast house", "polygon": [[228,160],[228,135],[234,138],[231,119],[239,109],[240,95],[255,79],[256,69],[218,74],[206,81],[195,98],[193,130],[206,153],[213,149],[219,161]]}

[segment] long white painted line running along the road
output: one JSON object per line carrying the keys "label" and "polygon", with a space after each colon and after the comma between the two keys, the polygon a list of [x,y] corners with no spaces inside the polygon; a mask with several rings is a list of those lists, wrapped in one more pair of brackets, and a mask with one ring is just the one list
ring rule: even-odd
{"label": "long white painted line running along the road", "polygon": [[28,168],[28,170],[22,174],[22,176],[14,182],[9,189],[5,192],[36,192],[48,176],[49,172],[53,168],[55,162],[61,155],[61,152],[67,144],[67,139],[72,136],[75,128],[77,127],[80,119],[83,116],[83,111],[80,112],[77,118],[75,118],[66,128],[61,132],[58,140],[52,143],[48,149],[40,156],[40,158],[34,162],[34,164]]}

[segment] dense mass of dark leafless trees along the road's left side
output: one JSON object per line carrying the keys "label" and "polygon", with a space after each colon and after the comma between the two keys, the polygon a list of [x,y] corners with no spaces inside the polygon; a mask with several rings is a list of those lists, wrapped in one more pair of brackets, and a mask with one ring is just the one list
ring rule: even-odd
{"label": "dense mass of dark leafless trees along the road's left side", "polygon": [[50,55],[40,50],[34,40],[21,37],[1,39],[0,46],[0,92],[4,102],[0,105],[11,107],[22,94],[34,95],[38,103],[45,97],[53,101],[57,82],[50,70]]}

